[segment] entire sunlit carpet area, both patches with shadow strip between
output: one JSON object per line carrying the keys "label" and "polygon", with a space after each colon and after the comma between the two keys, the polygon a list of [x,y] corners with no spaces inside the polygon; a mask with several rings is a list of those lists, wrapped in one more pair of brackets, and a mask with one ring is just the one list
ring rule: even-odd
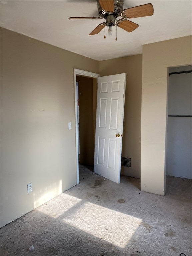
{"label": "entire sunlit carpet area, both patches with shadow strip between", "polygon": [[65,193],[47,202],[39,210],[61,223],[69,224],[121,248],[126,247],[142,222],[142,219]]}

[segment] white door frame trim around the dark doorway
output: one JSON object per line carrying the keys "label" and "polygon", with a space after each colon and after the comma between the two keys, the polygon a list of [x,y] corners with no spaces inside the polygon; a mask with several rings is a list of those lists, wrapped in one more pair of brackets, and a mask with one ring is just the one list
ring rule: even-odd
{"label": "white door frame trim around the dark doorway", "polygon": [[75,97],[75,153],[76,153],[76,172],[77,172],[77,184],[79,184],[79,155],[78,155],[78,121],[77,121],[77,86],[76,86],[76,76],[87,76],[91,78],[98,78],[100,75],[80,69],[74,68],[74,97]]}

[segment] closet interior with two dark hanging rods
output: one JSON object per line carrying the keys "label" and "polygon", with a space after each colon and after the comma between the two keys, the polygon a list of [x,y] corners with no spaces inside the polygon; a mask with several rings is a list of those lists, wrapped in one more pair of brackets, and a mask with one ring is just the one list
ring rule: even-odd
{"label": "closet interior with two dark hanging rods", "polygon": [[166,175],[191,179],[191,65],[169,68]]}

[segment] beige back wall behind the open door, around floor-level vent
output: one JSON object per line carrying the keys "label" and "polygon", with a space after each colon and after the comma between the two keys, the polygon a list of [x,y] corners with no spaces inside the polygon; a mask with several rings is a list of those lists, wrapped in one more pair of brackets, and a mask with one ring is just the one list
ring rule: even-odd
{"label": "beige back wall behind the open door, around floor-level vent", "polygon": [[99,62],[100,76],[126,73],[122,156],[132,158],[132,168],[121,174],[140,178],[142,54]]}

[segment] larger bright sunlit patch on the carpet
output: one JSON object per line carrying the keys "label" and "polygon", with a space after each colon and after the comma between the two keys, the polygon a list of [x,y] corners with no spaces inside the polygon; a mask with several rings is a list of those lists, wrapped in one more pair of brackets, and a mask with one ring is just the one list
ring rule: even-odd
{"label": "larger bright sunlit patch on the carpet", "polygon": [[142,222],[142,219],[90,202],[76,207],[62,220],[122,248]]}

